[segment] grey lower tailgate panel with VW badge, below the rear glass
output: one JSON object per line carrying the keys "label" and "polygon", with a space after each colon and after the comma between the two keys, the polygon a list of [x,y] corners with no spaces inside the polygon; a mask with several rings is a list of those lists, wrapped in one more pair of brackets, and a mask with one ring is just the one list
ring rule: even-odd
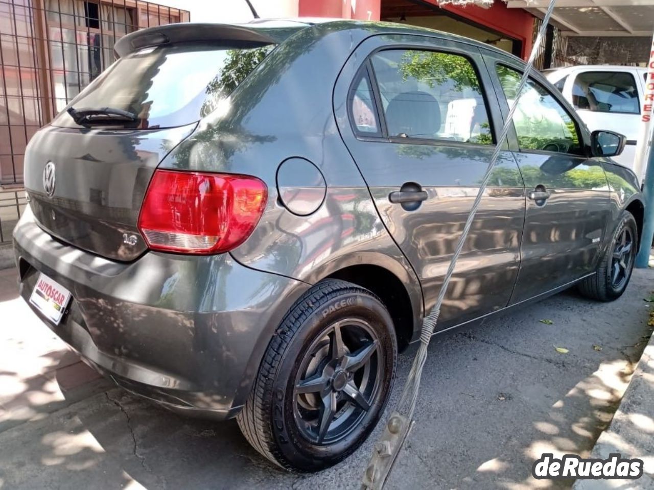
{"label": "grey lower tailgate panel with VW badge, below the rear glass", "polygon": [[25,169],[37,221],[78,248],[121,261],[135,259],[146,248],[136,225],[152,173],[169,148],[195,127],[39,131],[29,144]]}

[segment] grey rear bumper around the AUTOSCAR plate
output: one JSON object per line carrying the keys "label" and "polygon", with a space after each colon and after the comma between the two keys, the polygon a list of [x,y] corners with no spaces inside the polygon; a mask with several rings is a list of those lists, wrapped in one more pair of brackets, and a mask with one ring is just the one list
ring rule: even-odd
{"label": "grey rear bumper around the AUTOSCAR plate", "polygon": [[55,240],[29,208],[14,252],[26,301],[39,272],[71,291],[59,325],[30,307],[84,361],[166,408],[216,419],[245,403],[275,328],[309,287],[228,253],[111,261]]}

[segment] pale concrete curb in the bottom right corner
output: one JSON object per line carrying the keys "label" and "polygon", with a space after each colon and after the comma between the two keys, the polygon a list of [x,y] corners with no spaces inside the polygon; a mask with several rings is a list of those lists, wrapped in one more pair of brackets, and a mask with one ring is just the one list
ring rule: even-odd
{"label": "pale concrete curb in the bottom right corner", "polygon": [[[638,480],[577,480],[574,490],[654,489],[654,336],[638,361],[611,424],[600,434],[591,458],[608,459],[611,453],[644,461]],[[625,486],[626,485],[626,486]]]}

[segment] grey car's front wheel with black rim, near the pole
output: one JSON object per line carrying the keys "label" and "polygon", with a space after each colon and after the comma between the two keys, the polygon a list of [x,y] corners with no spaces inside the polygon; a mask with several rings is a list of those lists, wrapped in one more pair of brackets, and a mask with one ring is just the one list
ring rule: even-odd
{"label": "grey car's front wheel with black rim, near the pole", "polygon": [[623,211],[595,274],[579,283],[579,292],[596,301],[613,301],[621,297],[634,269],[637,244],[636,220],[630,212]]}

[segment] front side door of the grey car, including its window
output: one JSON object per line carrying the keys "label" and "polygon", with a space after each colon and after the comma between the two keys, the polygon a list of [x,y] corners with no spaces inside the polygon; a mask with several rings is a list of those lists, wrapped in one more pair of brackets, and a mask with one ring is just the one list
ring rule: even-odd
{"label": "front side door of the grey car, including its window", "polygon": [[[515,100],[521,65],[487,51],[504,111]],[[509,142],[526,187],[521,267],[511,303],[591,274],[610,221],[604,169],[586,155],[589,135],[542,78],[530,78]]]}

